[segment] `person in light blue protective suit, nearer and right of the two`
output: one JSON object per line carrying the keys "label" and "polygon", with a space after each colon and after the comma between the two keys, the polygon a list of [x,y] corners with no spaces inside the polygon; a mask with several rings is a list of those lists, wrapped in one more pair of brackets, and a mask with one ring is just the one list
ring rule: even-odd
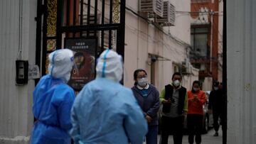
{"label": "person in light blue protective suit, nearer and right of the two", "polygon": [[105,50],[97,60],[96,73],[73,104],[70,134],[75,143],[142,144],[147,123],[132,90],[119,84],[122,57]]}

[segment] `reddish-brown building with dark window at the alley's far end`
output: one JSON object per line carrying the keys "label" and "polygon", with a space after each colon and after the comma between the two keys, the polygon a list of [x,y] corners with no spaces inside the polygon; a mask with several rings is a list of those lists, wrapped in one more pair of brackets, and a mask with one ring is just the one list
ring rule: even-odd
{"label": "reddish-brown building with dark window at the alley's far end", "polygon": [[[191,63],[204,83],[222,82],[222,6],[222,1],[191,0]],[[211,83],[204,85],[211,89]]]}

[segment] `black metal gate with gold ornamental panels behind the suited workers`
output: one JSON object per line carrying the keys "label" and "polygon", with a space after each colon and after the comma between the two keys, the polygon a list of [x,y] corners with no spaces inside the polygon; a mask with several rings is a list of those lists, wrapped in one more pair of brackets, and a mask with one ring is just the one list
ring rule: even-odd
{"label": "black metal gate with gold ornamental panels behind the suited workers", "polygon": [[37,9],[36,65],[42,75],[48,73],[48,54],[70,39],[95,40],[96,58],[105,48],[124,57],[125,0],[38,0]]}

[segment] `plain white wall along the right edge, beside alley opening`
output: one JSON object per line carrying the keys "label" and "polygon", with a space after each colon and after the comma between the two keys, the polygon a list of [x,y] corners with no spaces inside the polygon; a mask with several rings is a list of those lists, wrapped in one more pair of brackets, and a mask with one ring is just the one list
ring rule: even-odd
{"label": "plain white wall along the right edge, beside alley opening", "polygon": [[256,142],[256,1],[227,1],[228,143]]}

